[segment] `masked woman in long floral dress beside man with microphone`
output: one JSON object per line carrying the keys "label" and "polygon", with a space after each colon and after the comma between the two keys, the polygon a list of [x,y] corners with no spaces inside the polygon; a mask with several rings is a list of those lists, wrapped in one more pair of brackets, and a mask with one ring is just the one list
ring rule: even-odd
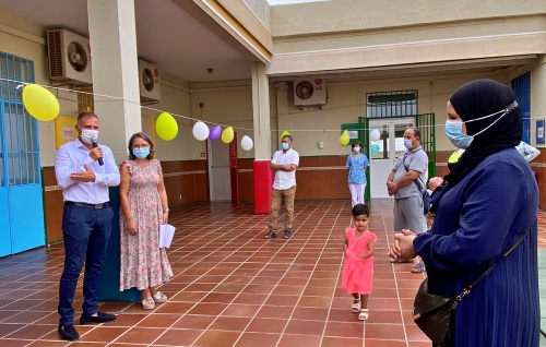
{"label": "masked woman in long floral dress beside man with microphone", "polygon": [[173,270],[164,248],[159,249],[159,225],[167,223],[168,202],[154,144],[139,132],[129,141],[129,160],[120,166],[120,291],[136,287],[142,308],[152,310],[167,301],[156,287],[169,282]]}

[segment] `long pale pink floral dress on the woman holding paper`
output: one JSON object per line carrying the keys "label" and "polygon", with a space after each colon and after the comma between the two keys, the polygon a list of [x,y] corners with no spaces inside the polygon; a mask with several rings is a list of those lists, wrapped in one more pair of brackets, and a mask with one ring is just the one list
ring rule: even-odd
{"label": "long pale pink floral dress on the woman holding paper", "polygon": [[121,246],[121,268],[119,290],[136,287],[142,290],[168,283],[173,270],[164,248],[159,249],[159,224],[163,222],[163,207],[157,191],[162,166],[152,159],[147,167],[135,161],[123,161],[131,174],[129,206],[136,220],[138,234],[127,232],[126,216],[119,212]]}

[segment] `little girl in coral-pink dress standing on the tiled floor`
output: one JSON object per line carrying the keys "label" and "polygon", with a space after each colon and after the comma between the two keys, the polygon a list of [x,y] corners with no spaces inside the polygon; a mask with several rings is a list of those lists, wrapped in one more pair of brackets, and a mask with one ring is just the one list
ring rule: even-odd
{"label": "little girl in coral-pink dress standing on the tiled floor", "polygon": [[342,286],[354,298],[351,306],[360,321],[369,315],[368,295],[373,280],[373,252],[377,236],[368,230],[370,210],[365,204],[353,207],[355,228],[345,229],[345,262],[343,264]]}

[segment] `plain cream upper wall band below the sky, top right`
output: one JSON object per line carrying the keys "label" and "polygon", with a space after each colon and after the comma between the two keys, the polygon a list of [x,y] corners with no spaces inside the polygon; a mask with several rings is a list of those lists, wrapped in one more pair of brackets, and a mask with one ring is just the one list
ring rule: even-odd
{"label": "plain cream upper wall band below the sky, top right", "polygon": [[273,36],[355,32],[546,13],[544,0],[330,0],[271,7]]}

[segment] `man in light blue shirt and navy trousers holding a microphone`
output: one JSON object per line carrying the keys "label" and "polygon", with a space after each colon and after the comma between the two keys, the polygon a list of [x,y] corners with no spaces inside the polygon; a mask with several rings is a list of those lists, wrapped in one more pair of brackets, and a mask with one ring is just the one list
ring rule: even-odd
{"label": "man in light blue shirt and navy trousers holding a microphone", "polygon": [[78,139],[62,145],[55,159],[55,174],[63,189],[62,235],[64,268],[59,285],[59,334],[63,339],[80,338],[74,328],[74,300],[78,278],[85,262],[81,324],[105,323],[115,314],[98,311],[98,285],[114,213],[108,187],[119,184],[119,169],[107,146],[97,144],[98,117],[78,116]]}

